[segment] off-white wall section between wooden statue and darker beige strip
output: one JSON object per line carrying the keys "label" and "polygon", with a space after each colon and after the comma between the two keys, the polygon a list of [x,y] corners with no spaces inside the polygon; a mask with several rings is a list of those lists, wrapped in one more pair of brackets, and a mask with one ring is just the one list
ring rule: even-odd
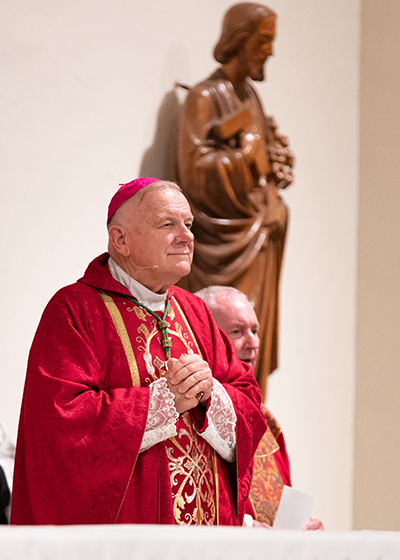
{"label": "off-white wall section between wooden statue and darker beige strip", "polygon": [[[282,2],[264,96],[297,156],[268,403],[293,484],[351,528],[358,185],[358,2]],[[283,98],[281,97],[283,95]]]}

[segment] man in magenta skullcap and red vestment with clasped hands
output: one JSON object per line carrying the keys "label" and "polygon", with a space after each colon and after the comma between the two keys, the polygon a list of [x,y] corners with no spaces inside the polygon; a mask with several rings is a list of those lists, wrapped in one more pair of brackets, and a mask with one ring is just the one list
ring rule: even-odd
{"label": "man in magenta skullcap and red vestment with clasped hands", "polygon": [[14,524],[243,522],[260,391],[190,271],[192,213],[155,178],[110,202],[108,253],[47,305],[16,451]]}

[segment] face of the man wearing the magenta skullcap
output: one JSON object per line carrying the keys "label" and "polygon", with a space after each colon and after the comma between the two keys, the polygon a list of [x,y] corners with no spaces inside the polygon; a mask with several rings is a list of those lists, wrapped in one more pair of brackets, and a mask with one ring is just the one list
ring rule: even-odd
{"label": "face of the man wearing the magenta skullcap", "polygon": [[164,293],[190,272],[193,216],[186,198],[173,188],[150,190],[133,204],[128,224],[127,272],[156,293]]}

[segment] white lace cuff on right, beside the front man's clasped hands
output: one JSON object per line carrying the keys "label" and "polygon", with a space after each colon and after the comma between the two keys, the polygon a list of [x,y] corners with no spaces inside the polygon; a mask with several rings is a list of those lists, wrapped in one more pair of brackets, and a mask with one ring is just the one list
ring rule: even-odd
{"label": "white lace cuff on right, beside the front man's clasped hands", "polygon": [[200,435],[223,459],[233,463],[236,459],[236,412],[230,396],[216,379],[213,379],[207,420],[208,426]]}

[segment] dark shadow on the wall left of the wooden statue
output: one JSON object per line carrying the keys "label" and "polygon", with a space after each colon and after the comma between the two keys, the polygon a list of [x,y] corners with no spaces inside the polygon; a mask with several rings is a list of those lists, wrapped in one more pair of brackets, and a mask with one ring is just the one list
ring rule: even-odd
{"label": "dark shadow on the wall left of the wooden statue", "polygon": [[140,177],[176,181],[178,121],[181,103],[175,89],[167,92],[158,111],[153,144],[146,150]]}

